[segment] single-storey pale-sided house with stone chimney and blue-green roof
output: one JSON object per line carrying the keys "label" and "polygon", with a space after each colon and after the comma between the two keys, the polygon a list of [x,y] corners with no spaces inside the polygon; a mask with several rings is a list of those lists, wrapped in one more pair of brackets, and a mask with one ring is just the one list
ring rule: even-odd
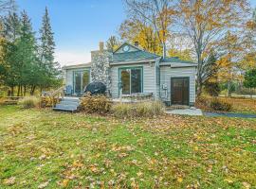
{"label": "single-storey pale-sided house with stone chimney and blue-green roof", "polygon": [[91,62],[64,66],[66,86],[81,95],[92,81],[101,81],[112,98],[129,94],[152,94],[167,105],[194,105],[197,64],[178,58],[162,58],[141,49],[137,43],[122,43],[109,52],[91,52]]}

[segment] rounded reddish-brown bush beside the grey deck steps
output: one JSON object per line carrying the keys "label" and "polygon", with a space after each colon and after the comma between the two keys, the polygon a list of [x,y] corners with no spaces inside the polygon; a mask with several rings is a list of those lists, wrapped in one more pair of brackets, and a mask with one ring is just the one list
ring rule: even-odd
{"label": "rounded reddish-brown bush beside the grey deck steps", "polygon": [[106,113],[111,110],[112,102],[103,94],[85,94],[81,98],[81,111],[87,113]]}

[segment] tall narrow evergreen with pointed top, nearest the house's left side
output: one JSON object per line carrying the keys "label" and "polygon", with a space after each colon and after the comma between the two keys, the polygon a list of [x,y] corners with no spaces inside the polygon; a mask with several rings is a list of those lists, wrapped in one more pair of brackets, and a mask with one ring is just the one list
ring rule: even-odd
{"label": "tall narrow evergreen with pointed top, nearest the house's left side", "polygon": [[53,32],[50,25],[50,19],[48,10],[46,8],[46,13],[43,17],[43,25],[40,29],[40,63],[41,68],[45,70],[45,75],[41,76],[44,78],[42,80],[42,87],[49,87],[51,84],[54,84],[59,72],[59,64],[54,61],[54,50],[55,43],[53,39]]}

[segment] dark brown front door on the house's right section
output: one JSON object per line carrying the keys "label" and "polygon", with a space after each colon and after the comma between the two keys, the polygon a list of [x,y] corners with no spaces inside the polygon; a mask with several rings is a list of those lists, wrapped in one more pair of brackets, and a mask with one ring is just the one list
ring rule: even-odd
{"label": "dark brown front door on the house's right section", "polygon": [[189,105],[190,103],[190,78],[171,78],[172,105]]}

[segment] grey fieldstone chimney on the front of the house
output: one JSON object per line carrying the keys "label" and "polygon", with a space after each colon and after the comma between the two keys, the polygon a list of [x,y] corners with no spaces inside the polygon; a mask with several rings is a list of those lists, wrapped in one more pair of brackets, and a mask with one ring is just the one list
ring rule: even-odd
{"label": "grey fieldstone chimney on the front of the house", "polygon": [[99,50],[91,52],[91,78],[93,81],[100,81],[106,85],[107,92],[110,94],[111,77],[110,64],[112,54],[104,49],[104,43],[99,43]]}

